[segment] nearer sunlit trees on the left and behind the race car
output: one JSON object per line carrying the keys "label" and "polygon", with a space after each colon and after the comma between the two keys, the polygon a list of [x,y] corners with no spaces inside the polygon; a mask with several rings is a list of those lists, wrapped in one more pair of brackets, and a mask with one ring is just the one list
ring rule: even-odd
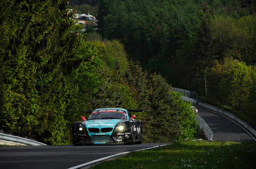
{"label": "nearer sunlit trees on the left and behind the race car", "polygon": [[[47,144],[71,143],[86,109],[142,108],[145,142],[193,137],[191,103],[129,60],[118,40],[81,34],[66,0],[1,1],[0,127]],[[157,131],[157,134],[156,134]]]}

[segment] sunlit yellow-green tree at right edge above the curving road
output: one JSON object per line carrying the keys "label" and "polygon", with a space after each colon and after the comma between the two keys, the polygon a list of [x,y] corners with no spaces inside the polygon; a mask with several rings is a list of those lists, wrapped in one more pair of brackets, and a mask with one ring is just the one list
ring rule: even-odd
{"label": "sunlit yellow-green tree at right edge above the curving road", "polygon": [[233,58],[226,58],[222,64],[216,61],[208,74],[213,99],[238,109],[241,113],[235,115],[252,127],[255,127],[252,120],[255,119],[255,74],[255,66],[247,66]]}

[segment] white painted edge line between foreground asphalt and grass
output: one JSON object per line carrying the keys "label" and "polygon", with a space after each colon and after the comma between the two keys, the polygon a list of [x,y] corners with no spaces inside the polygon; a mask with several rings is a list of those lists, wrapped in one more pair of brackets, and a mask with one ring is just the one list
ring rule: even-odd
{"label": "white painted edge line between foreground asphalt and grass", "polygon": [[[148,147],[148,148],[144,148],[144,149],[140,149],[140,150],[134,150],[134,151],[130,151],[130,152],[137,152],[137,151],[142,151],[142,150],[148,150],[148,149],[153,149],[153,148],[157,148],[157,147],[161,147],[161,146],[166,146],[166,145],[169,145],[169,144],[157,145],[157,146],[154,146],[154,147]],[[87,163],[84,163],[84,164],[80,164],[78,166],[74,166],[74,167],[68,168],[68,169],[79,169],[79,168],[86,167],[86,166],[92,165],[94,163],[98,163],[98,162],[101,162],[101,161],[104,161],[104,160],[107,160],[107,159],[110,159],[110,158],[113,158],[113,157],[117,157],[117,156],[120,156],[120,155],[125,155],[125,154],[128,154],[130,152],[124,152],[124,153],[118,153],[118,154],[115,154],[115,155],[106,156],[106,157],[103,157],[103,158],[100,158],[100,159],[97,159],[97,160],[93,160],[93,161],[90,161],[90,162],[87,162]]]}

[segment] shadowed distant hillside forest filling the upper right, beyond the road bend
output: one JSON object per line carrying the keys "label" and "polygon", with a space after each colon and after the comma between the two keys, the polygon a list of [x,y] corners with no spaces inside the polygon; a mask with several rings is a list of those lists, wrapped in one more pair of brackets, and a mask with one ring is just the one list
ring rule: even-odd
{"label": "shadowed distant hillside forest filling the upper right, beyond the road bend", "polygon": [[[100,34],[143,70],[256,128],[256,0],[98,0]],[[237,113],[238,112],[238,113]]]}

